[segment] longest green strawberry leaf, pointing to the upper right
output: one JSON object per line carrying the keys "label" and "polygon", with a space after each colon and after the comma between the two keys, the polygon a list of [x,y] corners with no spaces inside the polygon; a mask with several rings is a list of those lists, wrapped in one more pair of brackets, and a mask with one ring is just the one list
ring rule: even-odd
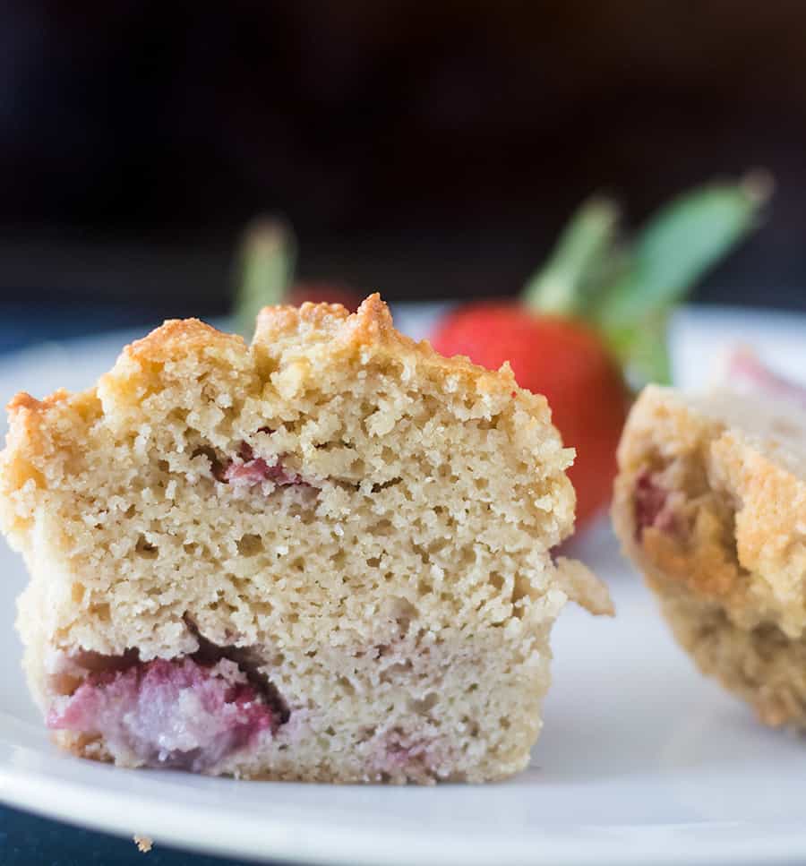
{"label": "longest green strawberry leaf, pointing to the upper right", "polygon": [[595,299],[605,333],[643,322],[679,303],[707,270],[759,222],[767,176],[710,184],[659,210],[630,245],[630,267]]}

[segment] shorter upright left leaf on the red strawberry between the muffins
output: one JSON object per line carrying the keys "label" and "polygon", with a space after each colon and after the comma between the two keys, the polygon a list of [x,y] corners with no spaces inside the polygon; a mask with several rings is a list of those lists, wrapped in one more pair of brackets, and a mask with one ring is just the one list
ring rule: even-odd
{"label": "shorter upright left leaf on the red strawberry between the muffins", "polygon": [[611,254],[619,222],[614,201],[594,198],[571,217],[549,259],[521,295],[536,313],[585,317],[596,279]]}

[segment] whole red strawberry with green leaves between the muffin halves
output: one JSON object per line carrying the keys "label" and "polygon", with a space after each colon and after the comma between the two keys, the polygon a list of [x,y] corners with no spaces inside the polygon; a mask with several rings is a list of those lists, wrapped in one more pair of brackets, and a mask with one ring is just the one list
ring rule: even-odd
{"label": "whole red strawberry with green leaves between the muffin halves", "polygon": [[497,369],[544,394],[563,441],[577,450],[569,476],[577,526],[610,501],[615,450],[630,390],[666,383],[666,324],[673,305],[754,225],[769,178],[711,184],[661,209],[625,243],[611,201],[583,205],[520,303],[470,304],[433,332],[443,355]]}

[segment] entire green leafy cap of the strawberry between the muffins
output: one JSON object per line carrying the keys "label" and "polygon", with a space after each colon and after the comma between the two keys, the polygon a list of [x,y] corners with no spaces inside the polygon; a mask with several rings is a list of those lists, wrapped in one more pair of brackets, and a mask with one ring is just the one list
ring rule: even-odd
{"label": "entire green leafy cap of the strawberry between the muffins", "polygon": [[699,279],[759,225],[772,193],[766,172],[707,184],[618,236],[619,210],[587,201],[571,217],[522,300],[535,313],[585,320],[635,387],[671,381],[667,325]]}

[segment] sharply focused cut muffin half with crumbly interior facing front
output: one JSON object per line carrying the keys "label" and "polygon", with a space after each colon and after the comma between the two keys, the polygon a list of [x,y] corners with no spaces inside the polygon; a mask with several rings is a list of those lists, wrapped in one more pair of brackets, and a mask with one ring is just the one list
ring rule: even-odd
{"label": "sharply focused cut muffin half with crumbly interior facing front", "polygon": [[24,666],[64,748],[307,781],[525,767],[549,631],[604,587],[543,397],[392,327],[379,296],[196,320],[98,386],[19,394],[0,519]]}

